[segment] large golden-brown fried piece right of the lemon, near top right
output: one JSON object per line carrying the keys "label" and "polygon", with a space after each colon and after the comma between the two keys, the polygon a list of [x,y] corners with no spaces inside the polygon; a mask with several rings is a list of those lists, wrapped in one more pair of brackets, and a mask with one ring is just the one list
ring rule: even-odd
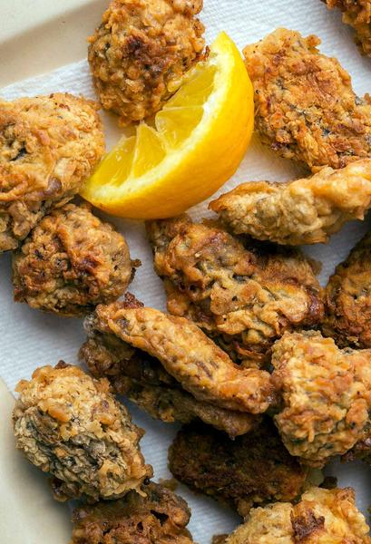
{"label": "large golden-brown fried piece right of the lemon, near top right", "polygon": [[255,90],[262,141],[309,168],[344,168],[371,156],[371,99],[356,96],[337,59],[320,54],[319,38],[279,28],[244,49]]}

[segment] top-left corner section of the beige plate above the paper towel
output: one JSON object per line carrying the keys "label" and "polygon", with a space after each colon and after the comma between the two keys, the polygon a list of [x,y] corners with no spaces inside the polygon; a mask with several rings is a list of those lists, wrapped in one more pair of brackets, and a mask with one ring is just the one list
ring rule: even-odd
{"label": "top-left corner section of the beige plate above the paper towel", "polygon": [[[87,7],[88,5],[88,7]],[[0,87],[86,56],[107,0],[0,0]]]}

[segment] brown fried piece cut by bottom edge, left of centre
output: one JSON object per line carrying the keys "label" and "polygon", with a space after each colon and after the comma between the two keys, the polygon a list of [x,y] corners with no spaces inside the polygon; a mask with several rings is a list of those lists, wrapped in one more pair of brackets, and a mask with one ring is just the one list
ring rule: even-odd
{"label": "brown fried piece cut by bottom edge, left of centre", "polygon": [[73,510],[70,544],[191,544],[186,501],[157,483],[142,491]]}

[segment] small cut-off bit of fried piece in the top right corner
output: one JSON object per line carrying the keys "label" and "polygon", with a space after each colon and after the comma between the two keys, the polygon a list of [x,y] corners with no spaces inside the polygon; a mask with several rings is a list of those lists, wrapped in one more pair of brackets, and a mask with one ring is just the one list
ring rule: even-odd
{"label": "small cut-off bit of fried piece in the top right corner", "polygon": [[361,53],[371,56],[371,2],[370,0],[322,0],[328,7],[343,12],[343,22],[356,31],[355,42]]}

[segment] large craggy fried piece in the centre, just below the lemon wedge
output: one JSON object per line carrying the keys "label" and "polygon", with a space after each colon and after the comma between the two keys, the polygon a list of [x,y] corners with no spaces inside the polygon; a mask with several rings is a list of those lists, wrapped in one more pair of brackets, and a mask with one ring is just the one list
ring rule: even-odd
{"label": "large craggy fried piece in the centre, just below the lemon wedge", "polygon": [[197,323],[236,362],[265,363],[287,330],[323,318],[312,263],[294,249],[248,244],[186,215],[147,222],[168,310]]}

